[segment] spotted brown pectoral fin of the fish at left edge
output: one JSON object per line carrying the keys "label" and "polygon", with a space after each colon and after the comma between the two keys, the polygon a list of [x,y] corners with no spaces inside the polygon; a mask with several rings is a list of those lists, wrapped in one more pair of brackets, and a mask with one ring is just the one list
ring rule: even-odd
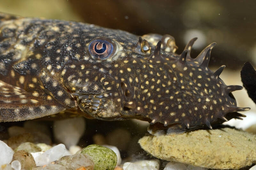
{"label": "spotted brown pectoral fin of the fish at left edge", "polygon": [[65,110],[51,97],[0,81],[0,122],[36,119]]}

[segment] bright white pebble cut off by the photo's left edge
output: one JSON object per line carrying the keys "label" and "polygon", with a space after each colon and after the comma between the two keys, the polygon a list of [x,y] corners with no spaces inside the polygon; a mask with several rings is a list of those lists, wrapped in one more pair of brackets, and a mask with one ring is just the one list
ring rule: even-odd
{"label": "bright white pebble cut off by the photo's left edge", "polygon": [[12,161],[14,151],[6,143],[0,141],[0,165],[9,164]]}

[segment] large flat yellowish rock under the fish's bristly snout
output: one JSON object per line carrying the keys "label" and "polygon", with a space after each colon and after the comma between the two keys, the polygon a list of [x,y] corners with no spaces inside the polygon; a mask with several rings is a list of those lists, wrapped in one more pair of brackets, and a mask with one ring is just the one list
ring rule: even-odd
{"label": "large flat yellowish rock under the fish's bristly snout", "polygon": [[213,169],[239,169],[256,162],[256,135],[232,128],[144,136],[140,146],[156,158]]}

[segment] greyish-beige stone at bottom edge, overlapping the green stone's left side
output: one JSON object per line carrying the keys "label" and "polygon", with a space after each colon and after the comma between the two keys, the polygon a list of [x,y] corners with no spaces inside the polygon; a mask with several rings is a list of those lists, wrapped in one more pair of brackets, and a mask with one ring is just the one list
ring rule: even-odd
{"label": "greyish-beige stone at bottom edge, overlapping the green stone's left side", "polygon": [[58,160],[58,164],[65,166],[68,169],[78,169],[83,166],[86,170],[93,170],[94,167],[94,162],[91,156],[85,153],[64,156]]}

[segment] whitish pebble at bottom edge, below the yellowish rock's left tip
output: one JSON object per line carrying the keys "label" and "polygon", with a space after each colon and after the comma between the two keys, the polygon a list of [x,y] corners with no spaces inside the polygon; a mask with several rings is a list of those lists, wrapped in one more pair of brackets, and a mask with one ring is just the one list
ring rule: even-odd
{"label": "whitish pebble at bottom edge, below the yellowish rock's left tip", "polygon": [[124,170],[158,170],[159,160],[141,160],[137,162],[125,162],[123,166]]}

